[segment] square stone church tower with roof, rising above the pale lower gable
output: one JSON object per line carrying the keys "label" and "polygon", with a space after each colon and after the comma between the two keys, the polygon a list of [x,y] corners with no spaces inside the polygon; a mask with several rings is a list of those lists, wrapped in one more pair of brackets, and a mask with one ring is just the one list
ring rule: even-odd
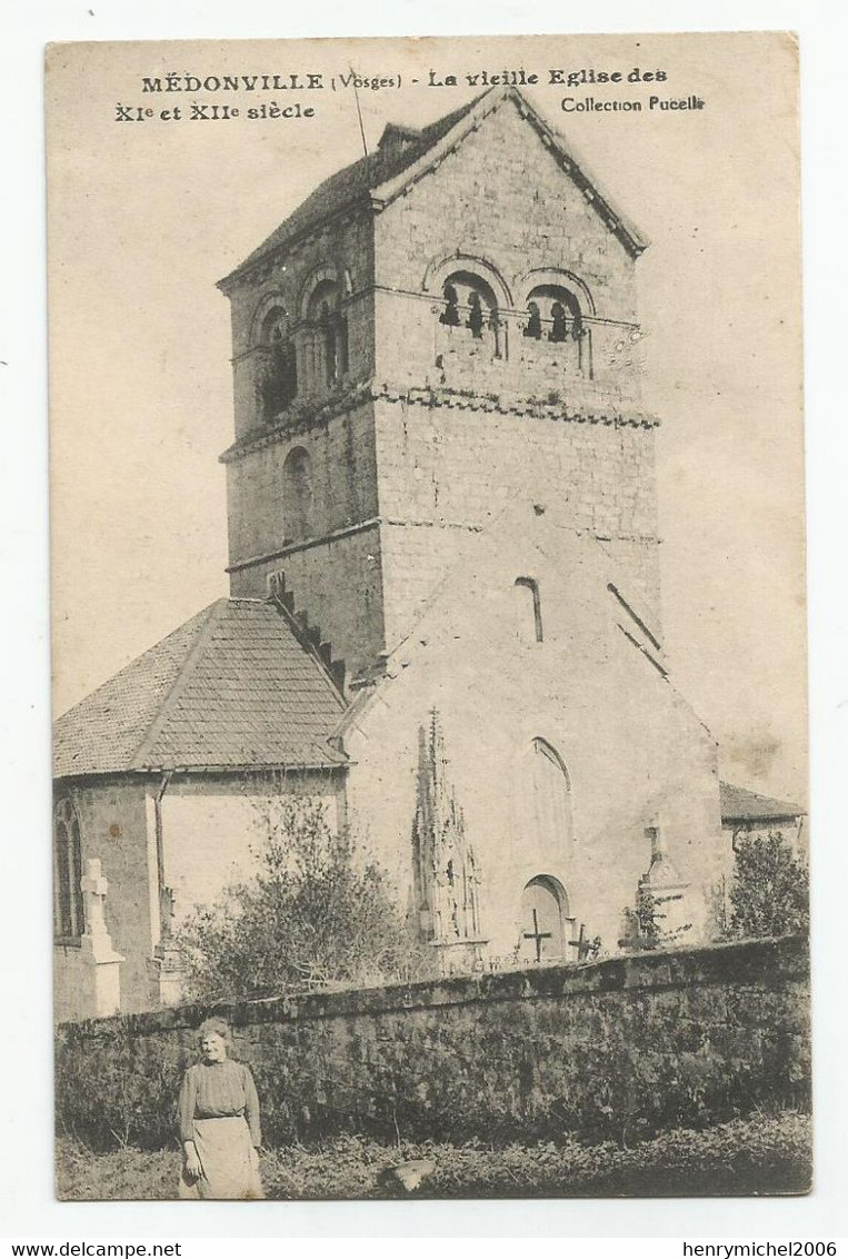
{"label": "square stone church tower with roof, rising above the pale lower gable", "polygon": [[555,494],[659,636],[644,248],[513,88],[389,125],[221,281],[232,594],[286,599],[355,687],[512,500]]}

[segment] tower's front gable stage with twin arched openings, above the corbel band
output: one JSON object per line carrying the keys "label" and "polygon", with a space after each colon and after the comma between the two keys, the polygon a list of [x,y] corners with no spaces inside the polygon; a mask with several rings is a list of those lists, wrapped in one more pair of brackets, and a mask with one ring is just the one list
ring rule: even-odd
{"label": "tower's front gable stage with twin arched openings, above the corbel band", "polygon": [[[499,358],[479,355],[477,364],[457,368],[460,375],[448,384],[476,379],[479,392],[525,397],[559,389],[565,399],[569,390],[583,397],[588,389],[599,402],[605,389],[610,400],[638,402],[639,373],[630,365],[639,354],[632,337],[638,334],[633,258],[511,101],[375,219],[377,379],[434,380],[434,351],[450,373],[450,342],[468,337],[462,326],[440,327],[434,311],[443,308],[444,279],[462,271],[491,285],[506,315],[508,346]],[[546,336],[522,336],[527,297],[554,273],[574,277],[590,321],[594,384],[588,361],[577,373],[571,340],[552,345]],[[418,297],[404,303],[403,346],[395,339],[393,349],[399,326],[393,307],[408,293]]]}

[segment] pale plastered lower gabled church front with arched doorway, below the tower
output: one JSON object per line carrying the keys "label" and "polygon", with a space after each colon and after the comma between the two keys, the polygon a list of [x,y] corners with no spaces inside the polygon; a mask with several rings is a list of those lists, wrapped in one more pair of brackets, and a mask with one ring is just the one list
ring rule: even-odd
{"label": "pale plastered lower gabled church front with arched doorway, below the tower", "polygon": [[[493,545],[497,558],[481,540],[471,588],[445,583],[389,661],[371,705],[362,703],[346,738],[351,813],[369,818],[381,860],[401,889],[409,885],[420,731],[435,709],[481,879],[489,956],[513,958],[527,927],[522,893],[538,878],[564,889],[569,930],[577,935],[583,924],[614,952],[650,866],[645,831],[657,823],[689,889],[688,938],[700,938],[720,851],[713,739],[619,630],[603,565],[574,549],[546,560],[508,541]],[[545,546],[552,551],[550,536]],[[513,582],[528,569],[545,638],[522,643]],[[570,836],[540,828],[535,740],[567,772]]]}

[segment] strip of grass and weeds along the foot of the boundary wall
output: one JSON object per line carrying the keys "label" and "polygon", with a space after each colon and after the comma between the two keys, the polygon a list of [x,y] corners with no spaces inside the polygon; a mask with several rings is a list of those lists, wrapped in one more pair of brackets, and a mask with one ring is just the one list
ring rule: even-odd
{"label": "strip of grass and weeds along the foot of the boundary wall", "polygon": [[[810,1187],[809,1115],[754,1115],[695,1132],[676,1129],[629,1149],[566,1137],[532,1146],[463,1146],[333,1137],[268,1149],[262,1177],[269,1199],[374,1197],[697,1197],[804,1194]],[[433,1173],[410,1195],[386,1172],[428,1158]],[[57,1195],[64,1200],[175,1196],[176,1148],[125,1148],[94,1155],[62,1138]]]}

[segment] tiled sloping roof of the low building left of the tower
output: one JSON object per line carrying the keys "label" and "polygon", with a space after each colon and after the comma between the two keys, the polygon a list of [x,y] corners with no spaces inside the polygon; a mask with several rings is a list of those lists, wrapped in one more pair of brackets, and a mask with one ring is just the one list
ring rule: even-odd
{"label": "tiled sloping roof of the low building left of the tower", "polygon": [[219,599],[58,719],[54,773],[338,767],[343,708],[283,612]]}

